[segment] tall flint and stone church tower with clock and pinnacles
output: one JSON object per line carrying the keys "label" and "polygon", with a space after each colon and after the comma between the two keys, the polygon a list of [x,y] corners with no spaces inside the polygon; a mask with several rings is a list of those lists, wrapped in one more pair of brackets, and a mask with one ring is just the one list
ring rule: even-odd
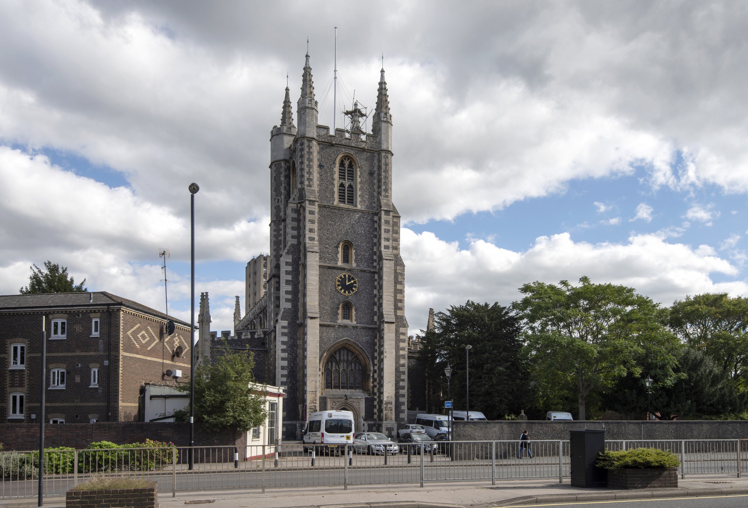
{"label": "tall flint and stone church tower with clock and pinnacles", "polygon": [[[400,215],[392,203],[392,117],[384,69],[372,132],[317,125],[310,57],[293,122],[289,89],[270,137],[269,382],[286,388],[283,436],[307,415],[354,413],[395,436],[407,420],[408,323]],[[248,315],[242,323],[254,319]]]}

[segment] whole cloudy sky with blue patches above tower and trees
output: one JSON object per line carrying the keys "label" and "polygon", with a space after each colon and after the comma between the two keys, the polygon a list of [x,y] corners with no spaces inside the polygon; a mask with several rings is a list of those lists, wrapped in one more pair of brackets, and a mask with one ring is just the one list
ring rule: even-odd
{"label": "whole cloudy sky with blue patches above tower and trees", "polygon": [[[230,329],[268,250],[269,131],[309,52],[319,121],[384,54],[411,333],[524,282],[748,294],[748,7],[718,1],[3,1],[0,294],[31,263]],[[340,108],[339,108],[340,109]],[[242,299],[242,308],[244,302]]]}

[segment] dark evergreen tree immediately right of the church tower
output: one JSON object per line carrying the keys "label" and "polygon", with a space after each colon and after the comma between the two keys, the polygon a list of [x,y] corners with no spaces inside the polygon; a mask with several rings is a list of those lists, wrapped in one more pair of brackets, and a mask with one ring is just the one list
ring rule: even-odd
{"label": "dark evergreen tree immediately right of the church tower", "polygon": [[465,346],[470,345],[470,409],[483,412],[489,420],[518,413],[528,400],[529,382],[519,356],[519,332],[517,318],[498,303],[468,300],[465,305],[435,313],[435,330],[426,333],[420,350],[427,407],[432,411],[444,407],[444,368],[451,365],[454,408],[465,408]]}

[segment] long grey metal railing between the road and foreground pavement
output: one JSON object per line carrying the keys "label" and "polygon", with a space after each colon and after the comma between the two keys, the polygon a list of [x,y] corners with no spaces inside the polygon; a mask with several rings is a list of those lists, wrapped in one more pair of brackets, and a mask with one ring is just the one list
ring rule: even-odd
{"label": "long grey metal railing between the road and foreground pavement", "polygon": [[[748,471],[748,440],[606,441],[607,450],[654,447],[676,453],[681,477]],[[44,494],[64,495],[92,477],[143,477],[164,495],[206,489],[419,484],[558,478],[570,475],[569,442],[461,441],[361,445],[248,445],[46,450]],[[0,498],[37,496],[38,452],[0,452]]]}

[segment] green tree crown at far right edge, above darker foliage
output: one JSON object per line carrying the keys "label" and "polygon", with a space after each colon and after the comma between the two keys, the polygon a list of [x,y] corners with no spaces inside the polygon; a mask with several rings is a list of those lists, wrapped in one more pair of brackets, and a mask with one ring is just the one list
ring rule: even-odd
{"label": "green tree crown at far right edge, above darker foliage", "polygon": [[682,341],[711,356],[737,388],[748,388],[748,298],[726,293],[686,297],[673,303],[669,324]]}

